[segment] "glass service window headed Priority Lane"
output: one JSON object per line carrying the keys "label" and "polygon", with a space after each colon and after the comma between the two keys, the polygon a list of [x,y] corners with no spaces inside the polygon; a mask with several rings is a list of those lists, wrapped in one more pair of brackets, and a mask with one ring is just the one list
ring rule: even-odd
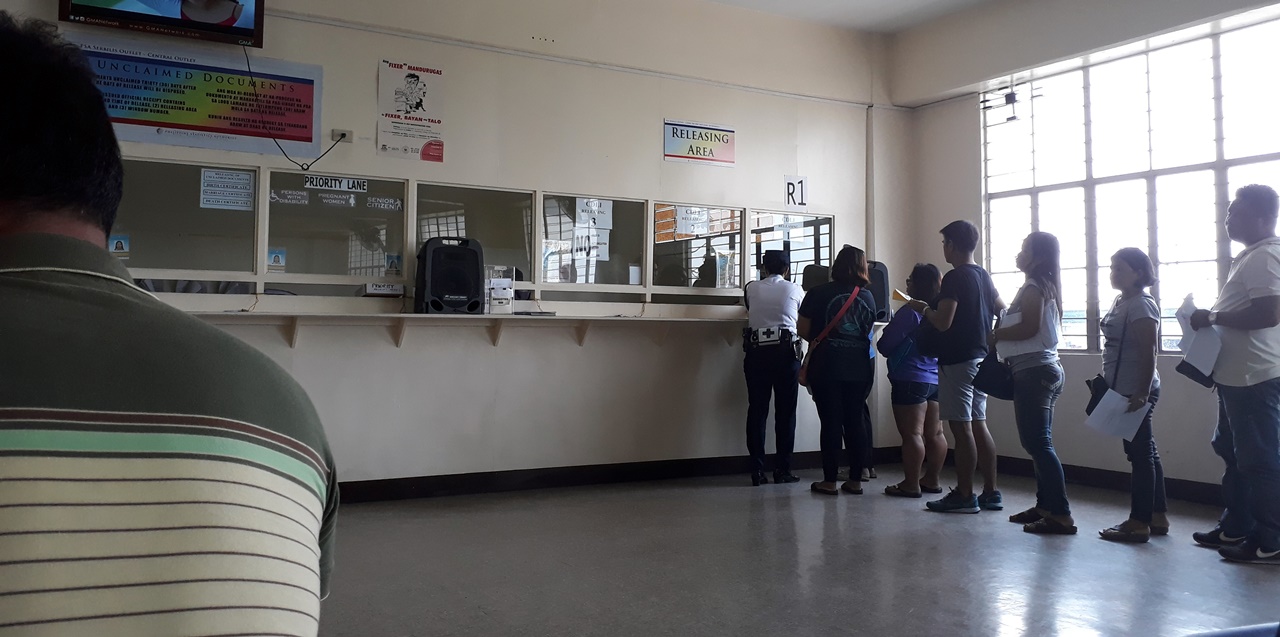
{"label": "glass service window headed Priority Lane", "polygon": [[268,272],[401,278],[404,182],[271,173]]}

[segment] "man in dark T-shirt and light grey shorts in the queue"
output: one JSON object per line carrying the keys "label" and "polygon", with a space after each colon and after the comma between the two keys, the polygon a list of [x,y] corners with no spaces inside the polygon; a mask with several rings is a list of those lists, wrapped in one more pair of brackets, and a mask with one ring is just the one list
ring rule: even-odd
{"label": "man in dark T-shirt and light grey shorts in the queue", "polygon": [[[1004,311],[991,275],[973,260],[978,228],[952,221],[942,229],[942,256],[952,270],[942,278],[937,308],[922,301],[911,307],[942,334],[938,340],[938,416],[951,423],[956,439],[956,487],[929,510],[978,513],[1000,510],[1004,503],[996,489],[996,441],[987,429],[987,395],[973,386],[978,363],[987,356],[992,321]],[[974,494],[973,472],[982,469],[983,492]]]}

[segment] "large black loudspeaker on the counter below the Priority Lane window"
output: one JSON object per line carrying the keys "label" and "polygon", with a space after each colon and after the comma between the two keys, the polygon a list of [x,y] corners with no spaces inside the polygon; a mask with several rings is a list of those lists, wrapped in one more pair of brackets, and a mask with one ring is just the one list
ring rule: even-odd
{"label": "large black loudspeaker on the counter below the Priority Lane window", "polygon": [[417,251],[413,311],[420,315],[484,312],[484,252],[475,239],[435,237]]}

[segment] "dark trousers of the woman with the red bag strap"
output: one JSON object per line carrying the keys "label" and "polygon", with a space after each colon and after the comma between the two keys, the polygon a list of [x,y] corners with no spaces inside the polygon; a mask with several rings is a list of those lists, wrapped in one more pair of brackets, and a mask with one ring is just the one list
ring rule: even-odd
{"label": "dark trousers of the woman with the red bag strap", "polygon": [[822,381],[809,384],[813,389],[813,402],[818,407],[818,420],[822,422],[819,446],[822,448],[822,480],[835,482],[840,475],[840,452],[844,441],[845,457],[849,460],[849,480],[854,482],[865,467],[867,421],[863,420],[863,405],[869,391],[865,381]]}

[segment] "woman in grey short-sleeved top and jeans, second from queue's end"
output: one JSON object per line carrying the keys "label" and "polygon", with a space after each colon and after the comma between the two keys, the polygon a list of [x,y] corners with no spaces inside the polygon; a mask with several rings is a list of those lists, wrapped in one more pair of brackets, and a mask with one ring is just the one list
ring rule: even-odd
{"label": "woman in grey short-sleeved top and jeans, second from queue's end", "polygon": [[1153,283],[1156,269],[1146,252],[1123,248],[1111,257],[1111,287],[1120,290],[1120,297],[1102,318],[1102,336],[1106,339],[1102,379],[1116,393],[1129,398],[1130,412],[1152,404],[1133,440],[1124,441],[1125,454],[1133,466],[1129,519],[1098,532],[1103,540],[1115,542],[1146,542],[1153,535],[1169,535],[1165,468],[1151,429],[1151,414],[1160,398],[1160,375],[1156,374],[1160,307],[1146,292]]}

